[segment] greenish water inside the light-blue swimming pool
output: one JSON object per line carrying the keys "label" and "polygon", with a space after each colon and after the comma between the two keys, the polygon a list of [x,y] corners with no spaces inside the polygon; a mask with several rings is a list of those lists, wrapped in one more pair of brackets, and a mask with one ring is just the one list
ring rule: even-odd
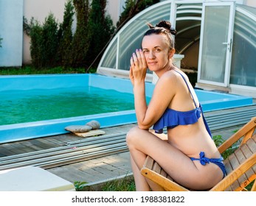
{"label": "greenish water inside the light-blue swimming pool", "polygon": [[134,110],[133,94],[89,86],[7,90],[0,99],[0,125]]}

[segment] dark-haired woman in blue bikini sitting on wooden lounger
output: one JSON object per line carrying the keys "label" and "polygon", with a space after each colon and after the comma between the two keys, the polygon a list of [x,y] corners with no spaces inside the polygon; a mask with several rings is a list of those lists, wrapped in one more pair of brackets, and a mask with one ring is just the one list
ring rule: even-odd
{"label": "dark-haired woman in blue bikini sitting on wooden lounger", "polygon": [[[147,155],[184,187],[212,188],[226,171],[195,91],[186,74],[172,63],[175,53],[172,34],[176,31],[168,21],[149,26],[142,39],[142,49],[134,52],[130,67],[138,127],[128,132],[126,142],[136,191],[163,190],[140,174]],[[147,68],[159,77],[148,105],[145,101]],[[162,133],[164,127],[167,135]]]}

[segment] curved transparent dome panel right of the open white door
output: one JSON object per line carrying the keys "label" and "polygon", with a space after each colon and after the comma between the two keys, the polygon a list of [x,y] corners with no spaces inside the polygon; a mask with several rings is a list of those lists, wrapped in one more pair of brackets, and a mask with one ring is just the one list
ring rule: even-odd
{"label": "curved transparent dome panel right of the open white door", "polygon": [[[256,9],[254,11],[256,15]],[[230,84],[256,86],[256,22],[238,11],[235,13]]]}

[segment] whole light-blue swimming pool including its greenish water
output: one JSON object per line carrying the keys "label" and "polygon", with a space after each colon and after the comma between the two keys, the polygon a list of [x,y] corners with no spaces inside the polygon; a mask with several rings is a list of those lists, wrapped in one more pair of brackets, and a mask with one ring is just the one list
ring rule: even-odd
{"label": "whole light-blue swimming pool including its greenish water", "polygon": [[[153,88],[146,83],[148,100]],[[253,104],[246,96],[196,93],[204,112]],[[65,127],[91,120],[102,128],[136,123],[129,79],[99,74],[0,76],[0,98],[0,143],[64,134]]]}

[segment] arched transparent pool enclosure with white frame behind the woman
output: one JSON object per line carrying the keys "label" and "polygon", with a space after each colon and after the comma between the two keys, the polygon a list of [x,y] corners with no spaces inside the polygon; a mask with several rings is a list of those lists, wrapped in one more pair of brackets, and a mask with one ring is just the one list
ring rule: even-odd
{"label": "arched transparent pool enclosure with white frame behind the woman", "polygon": [[[98,74],[128,78],[131,54],[147,23],[176,28],[174,63],[197,73],[196,87],[256,98],[256,8],[234,1],[161,1],[131,18],[100,60]],[[148,71],[148,82],[157,77]]]}

